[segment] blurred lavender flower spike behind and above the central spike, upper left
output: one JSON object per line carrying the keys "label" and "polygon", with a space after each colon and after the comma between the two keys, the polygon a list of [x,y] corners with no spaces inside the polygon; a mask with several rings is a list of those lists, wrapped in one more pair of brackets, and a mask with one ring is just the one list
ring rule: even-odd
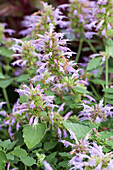
{"label": "blurred lavender flower spike behind and above the central spike, upper left", "polygon": [[65,26],[65,22],[62,21],[66,16],[59,10],[59,8],[54,8],[52,5],[41,1],[43,9],[35,12],[31,16],[26,16],[25,21],[22,22],[24,27],[28,27],[27,30],[23,30],[20,34],[31,35],[36,38],[37,34],[44,34],[49,31],[49,24],[53,24],[55,27],[59,25],[60,27]]}

